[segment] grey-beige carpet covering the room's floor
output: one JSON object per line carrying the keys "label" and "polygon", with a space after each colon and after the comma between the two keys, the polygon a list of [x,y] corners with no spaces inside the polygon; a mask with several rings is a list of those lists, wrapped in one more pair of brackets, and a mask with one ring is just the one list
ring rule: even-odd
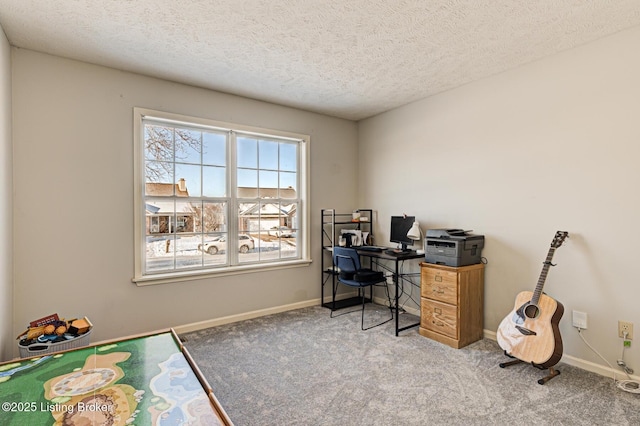
{"label": "grey-beige carpet covering the room's floor", "polygon": [[[388,312],[369,305],[366,320]],[[238,426],[640,424],[640,395],[610,378],[559,364],[539,385],[546,371],[500,368],[492,340],[456,350],[359,322],[311,307],[182,337]]]}

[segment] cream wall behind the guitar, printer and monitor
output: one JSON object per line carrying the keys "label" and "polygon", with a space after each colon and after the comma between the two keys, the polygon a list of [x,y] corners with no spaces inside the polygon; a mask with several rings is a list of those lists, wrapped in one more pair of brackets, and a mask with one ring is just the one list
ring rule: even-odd
{"label": "cream wall behind the guitar, printer and monitor", "polygon": [[485,329],[533,290],[554,233],[567,230],[544,287],[566,309],[564,353],[603,364],[571,326],[572,310],[588,314],[584,336],[614,365],[617,321],[627,320],[636,340],[625,359],[636,371],[638,51],[636,27],[359,126],[360,201],[379,209],[383,225],[406,212],[423,229],[485,235]]}

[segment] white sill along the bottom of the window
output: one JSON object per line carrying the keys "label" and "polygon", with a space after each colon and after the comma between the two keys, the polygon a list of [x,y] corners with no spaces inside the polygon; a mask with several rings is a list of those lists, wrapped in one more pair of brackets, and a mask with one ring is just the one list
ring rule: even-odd
{"label": "white sill along the bottom of the window", "polygon": [[138,287],[155,284],[169,284],[182,281],[201,280],[205,278],[226,277],[229,275],[251,274],[256,272],[274,271],[279,269],[299,268],[309,266],[311,259],[298,259],[288,262],[278,262],[271,264],[242,265],[226,268],[210,269],[206,271],[184,271],[171,272],[166,274],[145,275],[134,277],[131,281]]}

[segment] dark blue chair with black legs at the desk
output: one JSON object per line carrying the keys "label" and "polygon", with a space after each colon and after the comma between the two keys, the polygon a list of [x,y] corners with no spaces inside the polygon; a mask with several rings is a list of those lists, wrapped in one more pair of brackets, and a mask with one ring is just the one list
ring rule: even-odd
{"label": "dark blue chair with black legs at the desk", "polygon": [[[391,297],[389,296],[389,288],[387,287],[387,279],[384,277],[384,273],[381,271],[373,271],[371,269],[362,268],[360,265],[360,256],[353,248],[334,247],[333,248],[333,265],[338,269],[338,282],[350,287],[358,289],[358,293],[362,296],[362,319],[360,328],[362,330],[369,330],[370,328],[377,327],[382,324],[386,324],[393,319],[393,307],[391,304]],[[369,294],[371,300],[373,300],[373,287],[376,285],[384,285],[387,293],[387,299],[389,300],[389,312],[391,318],[365,328],[364,326],[364,305],[366,302],[365,289],[369,287]],[[334,287],[334,300],[335,300],[336,288]],[[356,312],[350,311],[345,314]],[[340,314],[343,315],[343,314]],[[331,318],[334,317],[333,310],[331,311]]]}

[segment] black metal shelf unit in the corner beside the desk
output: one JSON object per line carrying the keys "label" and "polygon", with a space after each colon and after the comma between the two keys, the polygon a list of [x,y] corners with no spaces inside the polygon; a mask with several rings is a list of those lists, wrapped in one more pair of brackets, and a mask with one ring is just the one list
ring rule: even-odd
{"label": "black metal shelf unit in the corner beside the desk", "polygon": [[[336,291],[339,284],[337,280],[338,272],[333,267],[333,247],[338,245],[343,229],[356,229],[369,232],[369,238],[373,241],[373,210],[357,209],[360,213],[360,220],[353,220],[353,213],[336,213],[335,209],[322,209],[322,259],[321,259],[321,291],[320,301],[322,306],[332,311],[355,306],[362,303],[362,297],[350,297],[336,300]],[[325,286],[331,283],[331,301],[324,301]],[[367,299],[366,302],[370,302]]]}

